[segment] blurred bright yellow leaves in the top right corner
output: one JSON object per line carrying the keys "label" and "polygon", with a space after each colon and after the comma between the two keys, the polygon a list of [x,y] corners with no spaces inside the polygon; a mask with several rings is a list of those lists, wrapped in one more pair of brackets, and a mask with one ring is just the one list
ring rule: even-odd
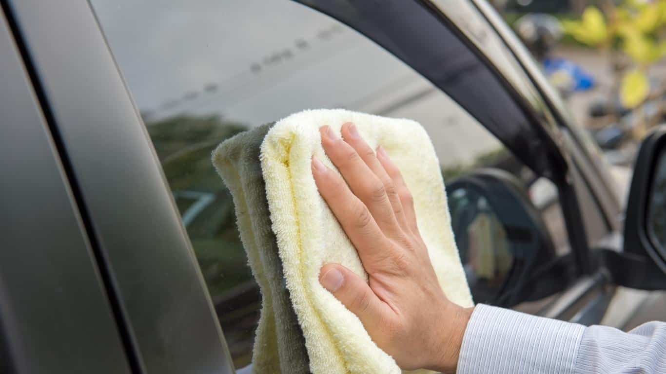
{"label": "blurred bright yellow leaves in the top right corner", "polygon": [[619,91],[622,104],[635,108],[649,94],[647,70],[666,55],[666,0],[609,1],[602,9],[587,7],[579,19],[563,19],[561,25],[580,43],[631,59],[621,73]]}

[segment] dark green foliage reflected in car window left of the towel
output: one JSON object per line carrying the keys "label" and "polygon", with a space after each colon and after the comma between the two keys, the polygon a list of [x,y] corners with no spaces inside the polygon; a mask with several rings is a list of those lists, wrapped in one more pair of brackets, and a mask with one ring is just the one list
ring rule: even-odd
{"label": "dark green foliage reflected in car window left of the towel", "polygon": [[246,126],[215,115],[146,118],[145,122],[180,215],[194,209],[202,198],[214,196],[186,223],[186,230],[234,365],[245,366],[251,359],[261,299],[236,228],[232,196],[210,155],[220,142]]}

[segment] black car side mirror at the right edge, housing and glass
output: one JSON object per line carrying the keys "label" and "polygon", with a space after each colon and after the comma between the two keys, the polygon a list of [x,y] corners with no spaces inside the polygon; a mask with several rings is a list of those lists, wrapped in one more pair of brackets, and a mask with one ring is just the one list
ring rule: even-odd
{"label": "black car side mirror at the right edge, housing and glass", "polygon": [[605,252],[613,283],[666,289],[666,126],[649,134],[636,158],[623,252]]}

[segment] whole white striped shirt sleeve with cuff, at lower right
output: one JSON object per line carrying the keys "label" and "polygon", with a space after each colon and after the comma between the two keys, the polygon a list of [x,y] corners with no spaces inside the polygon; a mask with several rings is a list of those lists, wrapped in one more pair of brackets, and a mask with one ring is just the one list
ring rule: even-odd
{"label": "whole white striped shirt sleeve with cuff, at lower right", "polygon": [[666,374],[666,323],[624,333],[479,304],[465,331],[457,372]]}

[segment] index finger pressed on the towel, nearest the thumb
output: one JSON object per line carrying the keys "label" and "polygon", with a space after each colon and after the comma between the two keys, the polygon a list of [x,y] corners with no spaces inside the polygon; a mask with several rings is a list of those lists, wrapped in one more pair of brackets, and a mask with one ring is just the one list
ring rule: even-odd
{"label": "index finger pressed on the towel, nearest the thumb", "polygon": [[338,218],[349,239],[356,247],[364,266],[386,257],[386,236],[372,218],[366,206],[349,189],[344,180],[316,157],[312,158],[312,176],[322,198]]}

